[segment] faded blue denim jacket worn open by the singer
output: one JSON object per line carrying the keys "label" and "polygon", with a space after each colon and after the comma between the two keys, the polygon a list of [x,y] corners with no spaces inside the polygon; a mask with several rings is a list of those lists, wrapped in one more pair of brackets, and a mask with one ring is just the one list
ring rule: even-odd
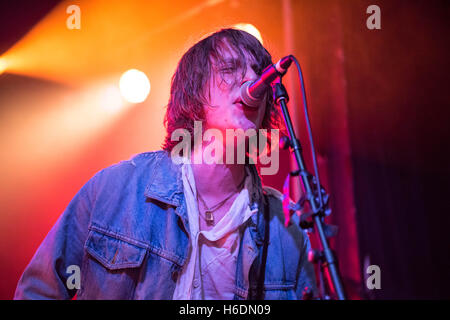
{"label": "faded blue denim jacket worn open by the singer", "polygon": [[[284,227],[278,197],[264,198],[242,226],[234,298],[301,298],[305,287],[316,290],[308,236],[296,215]],[[180,165],[165,151],[139,154],[80,189],[26,267],[14,298],[172,299],[189,252],[187,230]],[[80,287],[73,288],[77,268]]]}

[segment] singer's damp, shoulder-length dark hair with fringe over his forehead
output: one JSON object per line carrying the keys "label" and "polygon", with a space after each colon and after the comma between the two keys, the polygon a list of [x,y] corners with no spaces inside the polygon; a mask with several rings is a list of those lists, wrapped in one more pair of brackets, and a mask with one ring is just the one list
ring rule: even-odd
{"label": "singer's damp, shoulder-length dark hair with fringe over his forehead", "polygon": [[[225,58],[232,52],[237,59],[233,65]],[[215,76],[226,85],[240,86],[247,64],[259,76],[272,58],[258,39],[237,29],[222,29],[192,46],[181,58],[172,77],[169,103],[164,124],[166,137],[163,149],[171,151],[178,141],[172,141],[176,129],[186,129],[194,135],[194,121],[206,121],[205,106],[210,102],[210,85]],[[224,70],[224,71],[222,71]],[[268,90],[261,129],[278,128],[280,116],[274,106],[271,90]]]}

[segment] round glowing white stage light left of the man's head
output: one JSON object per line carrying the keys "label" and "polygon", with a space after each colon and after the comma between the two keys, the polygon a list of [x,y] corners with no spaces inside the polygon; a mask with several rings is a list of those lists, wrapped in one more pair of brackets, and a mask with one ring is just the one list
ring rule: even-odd
{"label": "round glowing white stage light left of the man's head", "polygon": [[130,69],[120,77],[119,88],[125,100],[140,103],[150,93],[150,81],[142,71]]}

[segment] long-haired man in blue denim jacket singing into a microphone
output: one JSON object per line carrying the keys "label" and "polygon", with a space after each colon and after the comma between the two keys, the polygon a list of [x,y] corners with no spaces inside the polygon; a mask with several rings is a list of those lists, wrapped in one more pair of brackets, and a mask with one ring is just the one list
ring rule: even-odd
{"label": "long-haired man in blue denim jacket singing into a microphone", "polygon": [[[296,215],[284,226],[282,195],[262,186],[249,157],[236,161],[236,139],[215,141],[223,161],[192,161],[208,148],[195,141],[195,122],[221,137],[278,126],[270,90],[258,108],[239,93],[271,63],[240,30],[191,47],[172,78],[163,150],[91,178],[40,245],[15,298],[301,299],[306,288],[315,292],[307,234]],[[191,138],[182,154],[173,152],[179,130]]]}

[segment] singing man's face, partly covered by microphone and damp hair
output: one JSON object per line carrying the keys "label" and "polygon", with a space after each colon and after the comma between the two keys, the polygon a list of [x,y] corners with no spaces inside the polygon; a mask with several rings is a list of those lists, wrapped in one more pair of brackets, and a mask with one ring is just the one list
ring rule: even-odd
{"label": "singing man's face, partly covered by microphone and damp hair", "polygon": [[[211,79],[209,81],[210,99],[205,105],[205,128],[219,129],[256,129],[261,127],[265,113],[266,101],[263,99],[258,108],[251,108],[240,101],[240,86],[243,82],[256,80],[258,77],[252,66],[254,60],[246,54],[246,70],[239,63],[239,56],[231,49],[223,50],[225,63],[218,65],[213,61]],[[242,78],[242,74],[244,77]]]}

